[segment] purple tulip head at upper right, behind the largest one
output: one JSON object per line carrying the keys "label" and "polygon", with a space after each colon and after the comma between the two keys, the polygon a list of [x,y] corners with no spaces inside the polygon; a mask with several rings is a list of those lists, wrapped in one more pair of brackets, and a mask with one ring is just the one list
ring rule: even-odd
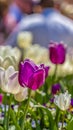
{"label": "purple tulip head at upper right, behind the largest one", "polygon": [[66,56],[66,46],[51,42],[49,45],[50,60],[53,64],[63,64]]}

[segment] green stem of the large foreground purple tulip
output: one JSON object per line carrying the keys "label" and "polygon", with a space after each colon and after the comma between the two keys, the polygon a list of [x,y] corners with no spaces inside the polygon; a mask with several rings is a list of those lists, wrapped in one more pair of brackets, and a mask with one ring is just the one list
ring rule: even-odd
{"label": "green stem of the large foreground purple tulip", "polygon": [[27,104],[25,106],[25,112],[24,112],[24,117],[23,117],[23,121],[22,121],[22,124],[21,124],[21,130],[24,130],[24,124],[25,124],[25,120],[26,120],[26,114],[28,112],[30,97],[31,97],[31,89],[29,89],[29,92],[28,92],[28,101],[27,101]]}

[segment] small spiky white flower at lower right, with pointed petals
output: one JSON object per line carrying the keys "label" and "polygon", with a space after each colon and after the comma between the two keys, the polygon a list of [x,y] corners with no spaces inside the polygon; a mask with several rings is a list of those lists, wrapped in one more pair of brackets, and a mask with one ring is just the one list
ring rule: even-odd
{"label": "small spiky white flower at lower right, with pointed petals", "polygon": [[66,91],[65,93],[60,93],[55,95],[54,103],[63,111],[67,110],[71,103],[71,95]]}

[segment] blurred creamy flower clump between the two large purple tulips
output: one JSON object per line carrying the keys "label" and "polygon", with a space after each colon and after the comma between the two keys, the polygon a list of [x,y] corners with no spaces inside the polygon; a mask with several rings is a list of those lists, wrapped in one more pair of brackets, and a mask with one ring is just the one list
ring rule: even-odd
{"label": "blurred creamy flower clump between the two large purple tulips", "polygon": [[36,64],[48,64],[49,62],[48,49],[38,44],[31,45],[27,48],[24,57],[32,59]]}

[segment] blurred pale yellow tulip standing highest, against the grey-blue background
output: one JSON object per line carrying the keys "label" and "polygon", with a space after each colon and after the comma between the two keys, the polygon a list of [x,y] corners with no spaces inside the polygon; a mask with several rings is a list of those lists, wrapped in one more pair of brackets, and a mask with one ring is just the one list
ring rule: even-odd
{"label": "blurred pale yellow tulip standing highest, against the grey-blue background", "polygon": [[20,32],[17,37],[17,43],[20,48],[28,48],[32,44],[32,34],[28,31]]}

